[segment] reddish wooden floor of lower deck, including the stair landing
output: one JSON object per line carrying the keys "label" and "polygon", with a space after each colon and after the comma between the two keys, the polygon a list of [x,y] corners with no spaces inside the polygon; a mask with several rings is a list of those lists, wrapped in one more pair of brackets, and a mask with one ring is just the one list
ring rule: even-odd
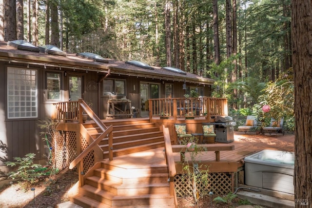
{"label": "reddish wooden floor of lower deck, including the stair landing", "polygon": [[[218,143],[224,144],[224,143]],[[231,151],[220,151],[220,161],[215,162],[215,152],[203,152],[198,156],[197,160],[202,164],[209,164],[211,172],[235,172],[237,169],[244,165],[244,158],[248,155],[263,149],[273,149],[281,151],[294,151],[294,135],[293,134],[266,134],[256,135],[254,133],[245,134],[243,132],[234,132],[234,142],[229,143],[235,146]],[[213,146],[214,144],[212,144]],[[128,155],[114,157],[110,161],[111,165],[124,166],[131,168],[138,165],[163,165],[164,161],[164,148],[156,148],[148,151],[132,153]],[[186,158],[190,159],[187,156]],[[175,153],[176,164],[180,161],[180,154]],[[178,170],[177,170],[178,171]]]}

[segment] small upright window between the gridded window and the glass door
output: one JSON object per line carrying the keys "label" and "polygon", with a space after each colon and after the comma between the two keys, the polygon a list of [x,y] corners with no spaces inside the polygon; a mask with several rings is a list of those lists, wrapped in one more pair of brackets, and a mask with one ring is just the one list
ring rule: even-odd
{"label": "small upright window between the gridded window and the glass door", "polygon": [[61,74],[54,72],[46,73],[47,99],[61,100]]}

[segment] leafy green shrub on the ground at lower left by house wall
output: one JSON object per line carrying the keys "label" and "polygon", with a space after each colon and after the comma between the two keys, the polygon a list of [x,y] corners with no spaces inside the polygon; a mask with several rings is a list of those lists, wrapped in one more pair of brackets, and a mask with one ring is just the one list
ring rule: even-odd
{"label": "leafy green shrub on the ground at lower left by house wall", "polygon": [[4,163],[6,166],[18,167],[16,171],[9,172],[9,177],[13,180],[20,178],[20,185],[26,190],[42,175],[36,171],[36,168],[41,167],[41,165],[34,164],[35,156],[34,153],[28,153],[23,158],[15,157],[16,162],[8,161]]}

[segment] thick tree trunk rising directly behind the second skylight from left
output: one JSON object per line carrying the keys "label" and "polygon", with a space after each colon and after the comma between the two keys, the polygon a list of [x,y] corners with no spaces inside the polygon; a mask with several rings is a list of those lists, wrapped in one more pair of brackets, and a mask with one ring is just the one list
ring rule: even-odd
{"label": "thick tree trunk rising directly behind the second skylight from left", "polygon": [[51,5],[51,44],[59,47],[59,12],[56,1],[50,1]]}

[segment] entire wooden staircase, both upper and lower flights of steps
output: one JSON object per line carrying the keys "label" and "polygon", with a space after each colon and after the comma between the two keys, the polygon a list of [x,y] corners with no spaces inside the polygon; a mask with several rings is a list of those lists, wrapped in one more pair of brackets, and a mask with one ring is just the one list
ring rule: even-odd
{"label": "entire wooden staircase, both upper and lower flights of steps", "polygon": [[[105,125],[114,126],[114,160],[106,159],[92,167],[84,176],[84,185],[70,195],[70,201],[83,208],[175,208],[167,165],[116,165],[116,156],[164,146],[159,127],[144,119],[105,121]],[[84,126],[93,137],[100,133],[93,124]],[[99,146],[104,158],[108,158],[108,138]]]}

